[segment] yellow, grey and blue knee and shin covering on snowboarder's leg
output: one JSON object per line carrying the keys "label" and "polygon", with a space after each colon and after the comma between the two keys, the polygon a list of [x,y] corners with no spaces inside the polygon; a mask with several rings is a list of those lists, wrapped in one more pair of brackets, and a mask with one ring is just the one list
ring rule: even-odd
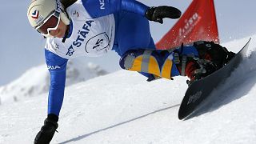
{"label": "yellow, grey and blue knee and shin covering on snowboarder's leg", "polygon": [[119,64],[125,70],[171,79],[171,76],[179,75],[173,59],[173,55],[167,50],[129,50],[122,56]]}

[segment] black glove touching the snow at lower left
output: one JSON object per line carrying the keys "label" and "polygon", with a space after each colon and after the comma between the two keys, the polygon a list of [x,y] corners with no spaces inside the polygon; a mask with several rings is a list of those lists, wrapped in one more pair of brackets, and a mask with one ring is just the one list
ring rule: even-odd
{"label": "black glove touching the snow at lower left", "polygon": [[49,144],[54,137],[54,133],[58,128],[58,116],[55,114],[48,114],[44,125],[34,138],[34,144]]}

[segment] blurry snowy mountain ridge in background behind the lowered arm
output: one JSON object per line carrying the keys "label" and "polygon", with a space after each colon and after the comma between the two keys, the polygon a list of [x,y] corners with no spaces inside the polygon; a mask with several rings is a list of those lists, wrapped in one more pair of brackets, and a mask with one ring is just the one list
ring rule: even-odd
{"label": "blurry snowy mountain ridge in background behind the lowered arm", "polygon": [[[107,74],[106,70],[94,63],[73,59],[66,68],[66,86]],[[46,65],[27,70],[21,77],[6,86],[0,86],[0,105],[17,102],[26,97],[47,93],[50,87],[50,74]]]}

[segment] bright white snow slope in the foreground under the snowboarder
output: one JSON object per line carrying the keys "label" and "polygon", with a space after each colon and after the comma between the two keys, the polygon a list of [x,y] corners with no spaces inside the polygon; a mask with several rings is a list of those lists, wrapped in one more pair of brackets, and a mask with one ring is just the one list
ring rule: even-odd
{"label": "bright white snow slope in the foreground under the snowboarder", "polygon": [[[238,51],[248,38],[224,44]],[[256,36],[250,49],[254,50]],[[225,83],[211,105],[178,120],[186,78],[146,82],[119,70],[66,87],[58,133],[51,143],[253,144],[256,142],[256,53]],[[47,94],[0,106],[0,143],[32,143],[46,118]]]}

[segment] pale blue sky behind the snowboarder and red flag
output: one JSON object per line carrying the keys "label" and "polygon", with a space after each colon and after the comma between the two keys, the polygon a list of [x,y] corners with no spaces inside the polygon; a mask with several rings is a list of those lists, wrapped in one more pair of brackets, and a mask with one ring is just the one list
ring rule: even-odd
{"label": "pale blue sky behind the snowboarder and red flag", "polygon": [[[192,0],[140,0],[148,6],[176,6],[182,12]],[[256,32],[256,1],[254,0],[215,0],[218,32],[221,42],[243,38]],[[0,10],[2,28],[0,34],[0,86],[18,78],[27,69],[44,63],[45,40],[35,32],[26,18],[30,0],[3,1]],[[175,20],[164,21],[163,25],[150,22],[155,42],[174,25]],[[117,54],[110,53],[102,58],[81,58],[85,62],[94,62],[110,72],[119,70]]]}

